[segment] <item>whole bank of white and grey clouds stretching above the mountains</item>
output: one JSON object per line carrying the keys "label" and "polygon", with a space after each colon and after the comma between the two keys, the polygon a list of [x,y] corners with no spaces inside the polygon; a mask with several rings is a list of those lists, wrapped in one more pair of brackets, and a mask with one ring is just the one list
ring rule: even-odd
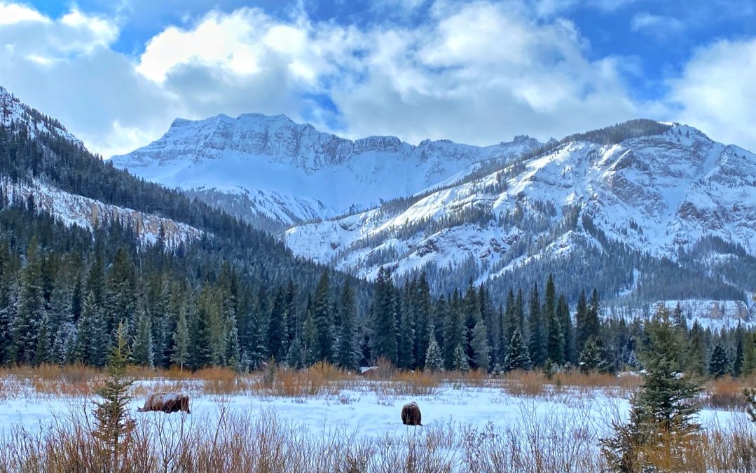
{"label": "whole bank of white and grey clouds stretching above the mountains", "polygon": [[138,57],[111,48],[119,34],[113,19],[76,9],[40,17],[0,25],[0,77],[105,156],[159,138],[178,116],[217,113],[286,113],[324,130],[338,123],[336,131],[351,138],[470,144],[522,133],[559,138],[637,116],[689,120],[715,138],[727,136],[717,130],[739,129],[732,141],[746,143],[745,124],[756,120],[756,107],[736,98],[749,97],[747,78],[756,74],[750,43],[700,51],[671,83],[679,113],[670,113],[665,100],[640,102],[629,93],[625,76],[637,63],[588,59],[590,45],[573,23],[523,2],[438,0],[414,26],[314,22],[301,11],[287,20],[259,8],[210,11],[167,26]]}

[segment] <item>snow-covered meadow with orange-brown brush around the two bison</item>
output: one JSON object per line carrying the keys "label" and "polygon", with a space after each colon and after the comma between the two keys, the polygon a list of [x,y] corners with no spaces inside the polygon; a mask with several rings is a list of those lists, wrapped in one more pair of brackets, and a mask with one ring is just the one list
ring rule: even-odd
{"label": "snow-covered meadow with orange-brown brush around the two bison", "polygon": [[[356,376],[327,365],[243,376],[223,369],[129,375],[133,422],[118,471],[601,471],[600,438],[626,420],[640,385],[627,373],[547,379],[379,369]],[[2,373],[0,470],[98,469],[91,431],[102,377],[83,367]],[[698,419],[704,431],[684,469],[756,466],[742,387],[707,385]],[[139,413],[156,391],[189,394],[191,414]],[[412,400],[422,427],[401,424],[401,407]]]}

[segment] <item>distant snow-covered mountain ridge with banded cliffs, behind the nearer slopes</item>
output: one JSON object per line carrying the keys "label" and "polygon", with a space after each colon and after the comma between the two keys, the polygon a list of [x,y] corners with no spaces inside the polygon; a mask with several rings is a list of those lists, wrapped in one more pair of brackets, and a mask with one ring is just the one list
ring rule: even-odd
{"label": "distant snow-covered mountain ridge with banded cliffs, behind the nearer slopes", "polygon": [[477,162],[539,145],[524,136],[490,147],[445,140],[413,146],[385,136],[351,141],[283,115],[248,113],[176,119],[159,140],[112,161],[248,221],[289,227],[411,195]]}

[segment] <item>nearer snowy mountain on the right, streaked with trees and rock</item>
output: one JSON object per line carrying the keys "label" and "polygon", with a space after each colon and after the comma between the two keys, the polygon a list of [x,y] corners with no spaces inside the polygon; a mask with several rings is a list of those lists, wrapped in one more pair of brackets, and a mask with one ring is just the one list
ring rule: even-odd
{"label": "nearer snowy mountain on the right, streaked with trees and rock", "polygon": [[363,277],[380,265],[398,277],[428,271],[445,281],[442,292],[468,278],[506,289],[551,271],[572,279],[562,287],[601,283],[607,296],[648,301],[745,300],[756,286],[753,153],[686,125],[637,120],[533,155],[293,227],[285,241]]}

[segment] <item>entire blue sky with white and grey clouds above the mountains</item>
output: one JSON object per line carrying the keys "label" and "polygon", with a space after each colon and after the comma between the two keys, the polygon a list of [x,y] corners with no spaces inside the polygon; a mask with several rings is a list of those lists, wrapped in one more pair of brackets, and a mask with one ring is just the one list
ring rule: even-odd
{"label": "entire blue sky with white and grey clouds above the mountains", "polygon": [[0,85],[104,157],[175,118],[497,144],[632,118],[756,151],[754,0],[0,0]]}

